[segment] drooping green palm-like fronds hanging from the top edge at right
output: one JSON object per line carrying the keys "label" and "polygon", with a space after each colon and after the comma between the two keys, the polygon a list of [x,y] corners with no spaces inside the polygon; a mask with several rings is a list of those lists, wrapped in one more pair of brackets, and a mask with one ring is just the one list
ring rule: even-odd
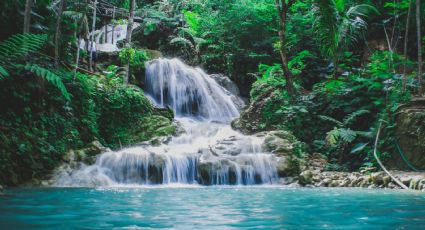
{"label": "drooping green palm-like fronds hanging from the top edge at right", "polygon": [[[322,53],[332,59],[334,77],[341,54],[358,41],[367,29],[365,19],[378,13],[375,7],[359,4],[348,7],[346,1],[314,0],[314,28]],[[348,8],[348,9],[347,9]]]}

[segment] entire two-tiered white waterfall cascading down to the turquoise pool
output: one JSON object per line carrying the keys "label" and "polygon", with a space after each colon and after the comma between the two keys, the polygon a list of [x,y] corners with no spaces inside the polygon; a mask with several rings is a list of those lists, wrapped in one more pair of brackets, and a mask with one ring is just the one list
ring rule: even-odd
{"label": "entire two-tiered white waterfall cascading down to the turquoise pool", "polygon": [[185,132],[167,144],[101,154],[96,163],[56,175],[57,186],[122,184],[252,185],[277,181],[277,157],[262,151],[264,138],[232,130],[235,96],[201,69],[178,59],[146,67],[146,93],[171,107]]}

